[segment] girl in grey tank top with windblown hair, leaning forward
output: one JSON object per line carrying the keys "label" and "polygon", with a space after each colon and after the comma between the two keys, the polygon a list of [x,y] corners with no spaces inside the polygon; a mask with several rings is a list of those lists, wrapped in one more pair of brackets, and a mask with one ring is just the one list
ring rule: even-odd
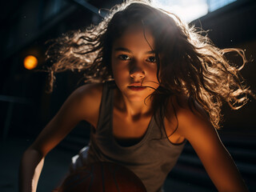
{"label": "girl in grey tank top with windblown hair, leaning forward", "polygon": [[161,191],[189,141],[218,191],[247,191],[216,132],[222,101],[238,109],[253,95],[240,81],[242,67],[224,57],[231,51],[246,62],[242,50],[219,50],[146,1],[114,6],[98,26],[59,38],[47,52],[55,59],[51,87],[62,70],[82,71],[91,83],[70,95],[24,153],[21,191],[36,190],[44,157],[82,120],[92,125],[90,146],[71,171],[115,162],[147,191]]}

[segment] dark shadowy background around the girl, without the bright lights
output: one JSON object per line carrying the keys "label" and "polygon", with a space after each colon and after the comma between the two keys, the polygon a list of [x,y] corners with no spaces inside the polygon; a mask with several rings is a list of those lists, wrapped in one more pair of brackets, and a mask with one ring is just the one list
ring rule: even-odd
{"label": "dark shadowy background around the girl, without the bright lights", "polygon": [[[117,2],[121,1],[11,0],[2,4],[0,8],[0,139],[2,155],[6,156],[1,159],[1,169],[4,170],[0,174],[1,180],[6,178],[4,174],[10,172],[11,169],[8,168],[10,166],[15,167],[14,173],[10,175],[17,174],[22,151],[30,145],[42,128],[46,126],[46,123],[53,118],[68,95],[83,83],[81,74],[70,72],[57,74],[54,92],[47,94],[47,74],[26,70],[23,67],[23,59],[26,55],[33,54],[38,58],[36,70],[41,69],[46,64],[45,51],[47,46],[45,42],[47,40],[58,38],[62,33],[78,30],[90,25],[90,23],[97,24],[102,19],[97,14],[97,10],[100,8],[109,9]],[[246,50],[246,57],[249,62],[241,73],[252,90],[256,90],[256,78],[254,77],[256,74],[255,10],[256,2],[254,0],[238,0],[190,23],[190,25],[202,27],[203,30],[209,30],[208,36],[220,48],[238,47]],[[251,182],[256,178],[254,142],[256,136],[254,112],[256,102],[253,98],[250,100],[240,110],[230,110],[226,104],[223,106],[222,113],[225,122],[222,123],[223,128],[219,134],[224,144],[230,149],[230,153],[234,151],[234,154],[231,154],[236,157],[234,160],[238,162],[237,164],[239,165],[241,162],[240,164],[243,165],[240,166],[241,172],[250,190],[256,190],[255,184],[253,185]],[[70,137],[58,146],[58,149],[64,151],[62,159],[65,158],[66,163],[68,163],[69,160],[67,159],[70,159],[71,155],[78,152],[78,147],[82,147],[88,142],[89,129],[86,129],[88,127],[86,122],[80,123],[70,134]],[[186,154],[190,154],[190,151],[190,146],[187,146],[178,166],[181,166],[182,161],[189,161]],[[246,154],[241,151],[246,151]],[[17,155],[12,156],[12,154]],[[65,154],[70,156],[66,158]],[[11,164],[12,158],[16,159],[13,162],[15,165]],[[58,161],[56,159],[53,161]],[[239,169],[240,167],[238,166]],[[179,173],[181,172],[179,171]],[[63,173],[62,171],[58,175]],[[190,175],[178,175],[176,174],[174,178],[179,182],[187,177],[185,179],[186,185],[201,185],[200,182],[196,181],[197,179],[192,179],[193,174],[192,178],[189,178]],[[10,176],[10,179],[7,179],[8,182],[2,180],[0,190],[15,191],[14,189],[17,189],[15,188],[17,187],[15,179],[17,176],[14,179]],[[56,180],[58,181],[58,178]],[[50,178],[46,178],[46,181],[50,181]],[[206,187],[205,189],[214,189],[209,184],[210,182],[207,183],[206,185],[202,184]],[[166,191],[168,189],[166,184]]]}

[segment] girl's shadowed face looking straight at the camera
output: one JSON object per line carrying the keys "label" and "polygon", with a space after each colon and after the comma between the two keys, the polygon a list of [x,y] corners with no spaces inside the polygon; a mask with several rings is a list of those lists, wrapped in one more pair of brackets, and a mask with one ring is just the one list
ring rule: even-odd
{"label": "girl's shadowed face looking straight at the camera", "polygon": [[114,80],[124,97],[142,102],[158,88],[154,38],[141,25],[130,26],[114,41],[111,55]]}

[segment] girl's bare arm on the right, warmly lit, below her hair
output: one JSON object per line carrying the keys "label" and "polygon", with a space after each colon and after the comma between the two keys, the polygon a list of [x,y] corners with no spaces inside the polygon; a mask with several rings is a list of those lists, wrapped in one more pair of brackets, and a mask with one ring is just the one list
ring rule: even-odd
{"label": "girl's bare arm on the right, warmly lit, below her hair", "polygon": [[178,134],[193,146],[218,191],[248,191],[237,166],[223,146],[217,131],[208,121],[206,113],[197,103],[195,107],[198,112],[195,109],[192,112],[188,105],[175,105]]}

